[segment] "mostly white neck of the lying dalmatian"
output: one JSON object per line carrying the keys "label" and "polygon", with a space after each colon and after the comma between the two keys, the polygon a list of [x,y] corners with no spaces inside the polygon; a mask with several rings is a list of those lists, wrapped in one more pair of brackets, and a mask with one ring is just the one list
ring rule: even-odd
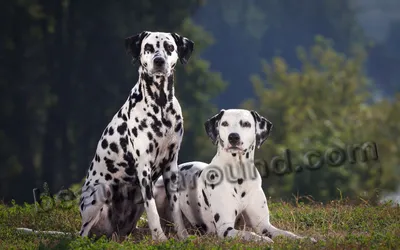
{"label": "mostly white neck of the lying dalmatian", "polygon": [[231,153],[218,144],[217,154],[212,159],[211,164],[221,168],[229,167],[229,165],[232,167],[253,166],[254,147],[250,147],[243,152]]}

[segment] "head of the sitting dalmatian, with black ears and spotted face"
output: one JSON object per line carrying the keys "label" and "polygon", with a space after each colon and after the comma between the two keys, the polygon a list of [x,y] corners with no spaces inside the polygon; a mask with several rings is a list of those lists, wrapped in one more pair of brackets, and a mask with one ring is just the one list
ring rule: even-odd
{"label": "head of the sitting dalmatian, with black ears and spotted face", "polygon": [[186,64],[194,42],[177,33],[143,31],[125,38],[125,49],[133,63],[139,61],[149,75],[170,75],[178,61]]}

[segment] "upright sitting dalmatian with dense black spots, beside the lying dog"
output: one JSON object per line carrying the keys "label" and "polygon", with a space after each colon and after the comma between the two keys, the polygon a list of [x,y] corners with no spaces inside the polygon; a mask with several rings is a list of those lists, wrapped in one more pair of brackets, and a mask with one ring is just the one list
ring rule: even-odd
{"label": "upright sitting dalmatian with dense black spots, beside the lying dog", "polygon": [[[176,33],[143,31],[125,39],[139,79],[104,129],[82,187],[81,236],[126,236],[146,211],[154,240],[167,240],[153,196],[154,182],[178,187],[178,152],[183,136],[181,107],[174,93],[174,68],[186,64],[194,42]],[[188,236],[178,193],[166,189],[178,236]]]}

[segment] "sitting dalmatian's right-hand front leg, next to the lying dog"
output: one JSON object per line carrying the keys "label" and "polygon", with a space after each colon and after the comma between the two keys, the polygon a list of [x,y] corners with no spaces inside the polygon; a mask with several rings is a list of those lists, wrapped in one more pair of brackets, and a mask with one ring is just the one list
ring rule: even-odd
{"label": "sitting dalmatian's right-hand front leg, next to the lying dog", "polygon": [[185,239],[188,237],[188,232],[183,223],[182,212],[179,205],[179,185],[182,185],[181,182],[184,180],[181,179],[178,172],[178,159],[176,156],[171,163],[165,166],[163,180],[175,231],[180,239]]}

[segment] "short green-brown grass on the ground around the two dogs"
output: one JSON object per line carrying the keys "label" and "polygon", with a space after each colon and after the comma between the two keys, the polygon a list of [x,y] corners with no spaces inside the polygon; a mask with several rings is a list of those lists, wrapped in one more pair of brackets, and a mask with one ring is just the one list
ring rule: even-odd
{"label": "short green-brown grass on the ground around the two dogs", "polygon": [[[303,236],[313,236],[319,242],[284,238],[275,243],[220,240],[212,236],[191,236],[185,241],[174,238],[164,243],[139,239],[97,241],[77,236],[26,234],[17,227],[36,230],[79,231],[80,216],[76,205],[56,205],[54,209],[37,212],[32,204],[23,206],[0,204],[0,249],[399,249],[400,206],[390,203],[354,205],[349,201],[329,204],[269,202],[271,222],[278,228]],[[140,226],[146,226],[145,220]]]}

